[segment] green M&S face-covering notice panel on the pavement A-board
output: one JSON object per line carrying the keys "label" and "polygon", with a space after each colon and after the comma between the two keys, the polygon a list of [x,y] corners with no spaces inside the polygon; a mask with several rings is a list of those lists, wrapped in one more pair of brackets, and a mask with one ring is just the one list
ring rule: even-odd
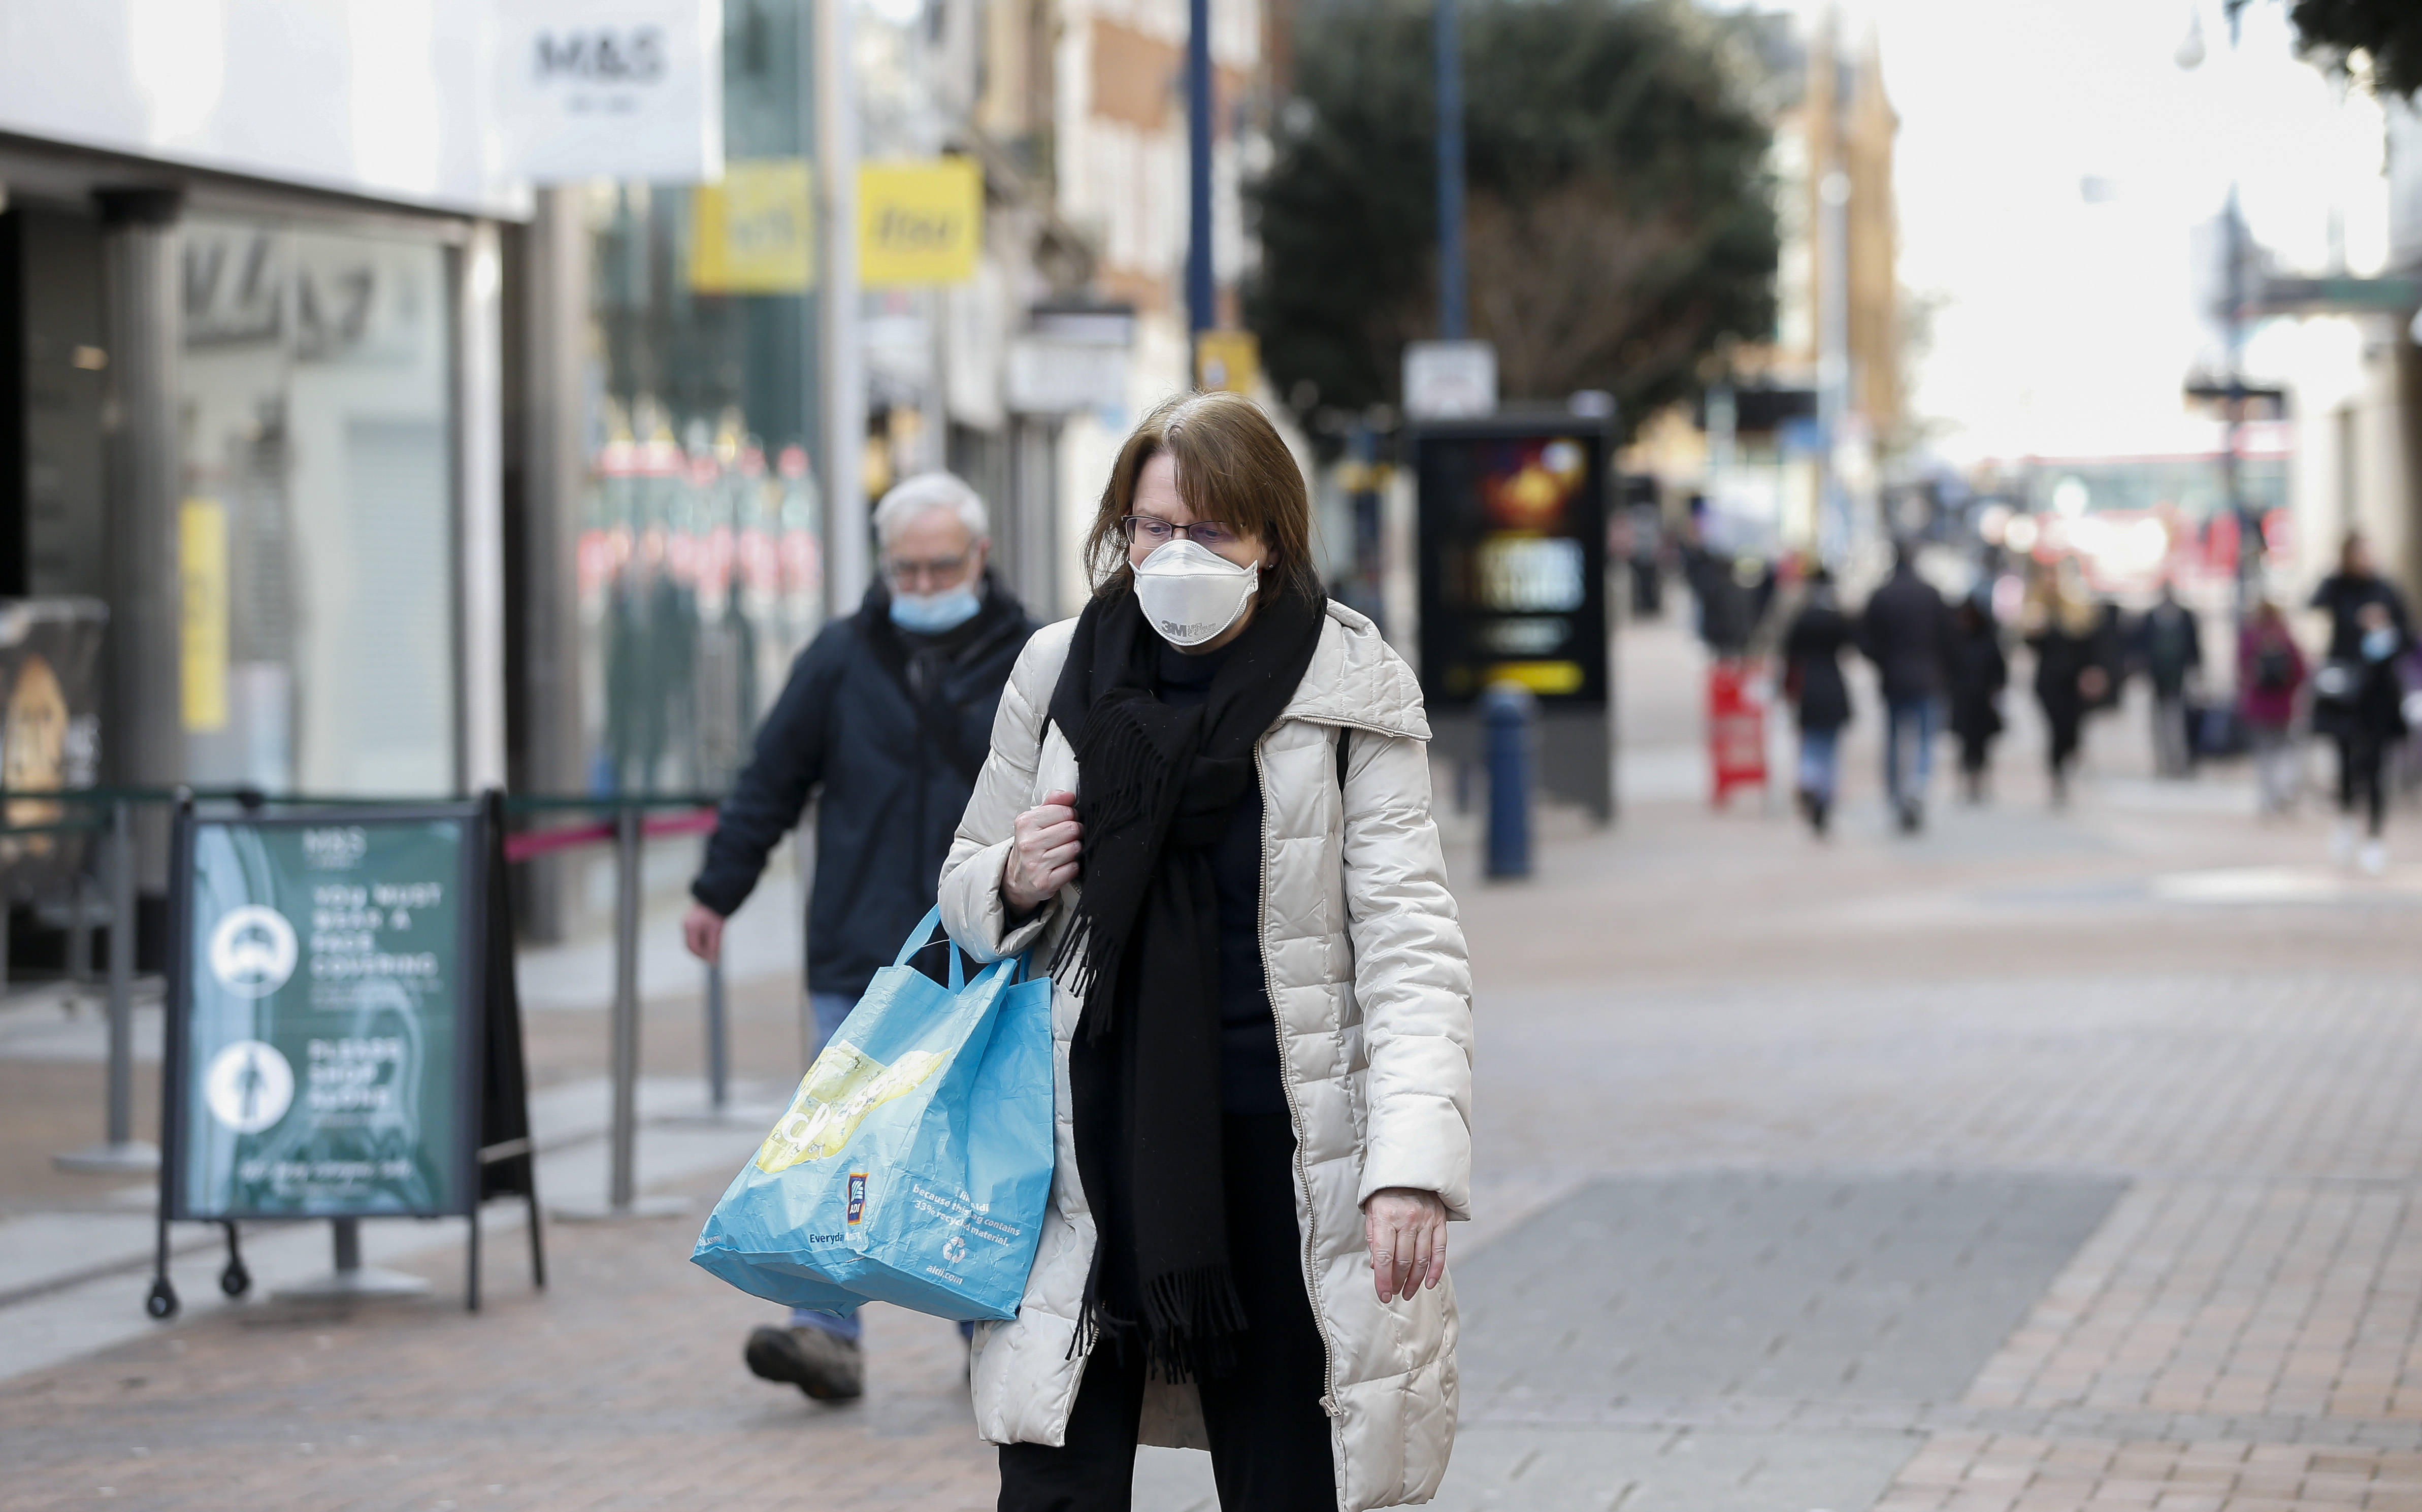
{"label": "green M&S face-covering notice panel on the pavement A-board", "polygon": [[477,807],[179,821],[174,1216],[470,1212],[480,836]]}

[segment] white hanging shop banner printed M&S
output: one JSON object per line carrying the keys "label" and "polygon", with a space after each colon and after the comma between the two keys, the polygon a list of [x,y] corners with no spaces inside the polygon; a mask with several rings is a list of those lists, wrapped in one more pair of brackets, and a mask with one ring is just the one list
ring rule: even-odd
{"label": "white hanging shop banner printed M&S", "polygon": [[724,174],[722,0],[497,0],[504,172],[533,184]]}

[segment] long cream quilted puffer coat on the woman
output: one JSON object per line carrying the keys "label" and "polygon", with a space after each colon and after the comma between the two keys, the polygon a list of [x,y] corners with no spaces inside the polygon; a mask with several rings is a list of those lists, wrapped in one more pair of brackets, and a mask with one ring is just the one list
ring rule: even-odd
{"label": "long cream quilted puffer coat on the woman", "polygon": [[[1075,897],[1071,887],[1005,928],[1012,821],[1078,785],[1075,751],[1046,712],[1073,628],[1063,620],[1027,642],[942,865],[942,923],[978,960],[1027,947],[1051,960]],[[1296,1124],[1303,1277],[1330,1354],[1322,1408],[1339,1512],[1427,1502],[1456,1442],[1453,1279],[1383,1306],[1361,1219],[1381,1187],[1436,1192],[1448,1216],[1470,1216],[1470,964],[1429,812],[1427,741],[1412,669],[1368,618],[1330,603],[1303,683],[1255,751],[1262,960]],[[1068,1119],[1078,1010],[1066,989],[1054,993],[1058,1168],[1025,1304],[1012,1323],[976,1325],[976,1427],[995,1444],[1063,1444],[1085,1374],[1068,1347],[1095,1245]],[[1206,1447],[1194,1388],[1155,1381],[1141,1437]]]}

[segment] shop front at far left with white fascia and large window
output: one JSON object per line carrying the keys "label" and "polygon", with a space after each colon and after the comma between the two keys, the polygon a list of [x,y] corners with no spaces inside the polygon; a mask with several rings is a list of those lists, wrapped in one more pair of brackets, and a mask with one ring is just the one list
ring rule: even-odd
{"label": "shop front at far left with white fascia and large window", "polygon": [[107,603],[109,780],[504,780],[482,17],[0,7],[0,594]]}

